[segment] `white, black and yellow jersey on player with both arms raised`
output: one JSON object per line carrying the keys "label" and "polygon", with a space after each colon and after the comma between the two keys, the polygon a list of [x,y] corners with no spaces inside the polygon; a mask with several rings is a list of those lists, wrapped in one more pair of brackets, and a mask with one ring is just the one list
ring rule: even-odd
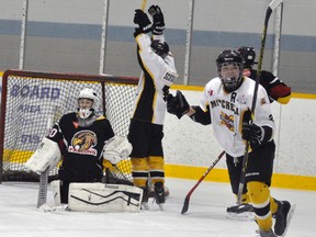
{"label": "white, black and yellow jersey on player with both arms raised", "polygon": [[[162,35],[154,35],[163,40]],[[178,78],[174,59],[169,54],[165,59],[155,54],[147,34],[136,37],[137,57],[143,69],[137,87],[132,119],[163,125],[167,103],[163,100],[170,86]]]}

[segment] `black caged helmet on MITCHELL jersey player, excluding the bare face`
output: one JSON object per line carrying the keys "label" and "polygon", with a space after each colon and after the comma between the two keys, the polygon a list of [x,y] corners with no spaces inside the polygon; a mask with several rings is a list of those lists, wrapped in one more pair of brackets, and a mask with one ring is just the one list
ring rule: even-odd
{"label": "black caged helmet on MITCHELL jersey player, excluding the bare face", "polygon": [[[242,69],[244,69],[244,58],[241,55],[235,50],[235,49],[227,49],[223,50],[217,59],[216,59],[216,65],[217,65],[217,71],[219,75],[219,79],[227,92],[232,92],[236,89],[239,88],[242,81]],[[225,65],[236,65],[239,67],[239,75],[238,77],[233,77],[233,78],[223,78],[222,77],[222,67]]]}

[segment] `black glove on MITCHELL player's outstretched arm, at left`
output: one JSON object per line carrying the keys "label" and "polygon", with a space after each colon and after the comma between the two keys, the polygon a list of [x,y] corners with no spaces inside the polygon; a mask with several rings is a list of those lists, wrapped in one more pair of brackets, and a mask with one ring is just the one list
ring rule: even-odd
{"label": "black glove on MITCHELL player's outstretched arm, at left", "polygon": [[188,113],[189,110],[190,105],[181,91],[178,90],[176,97],[170,93],[167,95],[167,111],[174,114],[179,120]]}

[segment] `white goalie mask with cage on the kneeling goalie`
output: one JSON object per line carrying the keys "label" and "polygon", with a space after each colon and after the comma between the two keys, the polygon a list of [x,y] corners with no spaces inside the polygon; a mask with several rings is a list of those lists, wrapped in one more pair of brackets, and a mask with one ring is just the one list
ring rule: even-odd
{"label": "white goalie mask with cage on the kneeling goalie", "polygon": [[77,113],[78,117],[82,120],[92,117],[99,103],[99,98],[97,97],[97,93],[90,88],[84,88],[79,92],[77,101],[78,101],[78,113]]}

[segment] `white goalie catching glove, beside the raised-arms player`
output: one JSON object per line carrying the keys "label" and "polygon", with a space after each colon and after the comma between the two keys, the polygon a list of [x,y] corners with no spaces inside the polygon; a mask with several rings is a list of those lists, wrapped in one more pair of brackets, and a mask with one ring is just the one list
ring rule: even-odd
{"label": "white goalie catching glove, beside the raised-arms player", "polygon": [[103,147],[103,158],[112,165],[119,163],[126,159],[132,153],[133,147],[125,137],[114,136],[106,140]]}

